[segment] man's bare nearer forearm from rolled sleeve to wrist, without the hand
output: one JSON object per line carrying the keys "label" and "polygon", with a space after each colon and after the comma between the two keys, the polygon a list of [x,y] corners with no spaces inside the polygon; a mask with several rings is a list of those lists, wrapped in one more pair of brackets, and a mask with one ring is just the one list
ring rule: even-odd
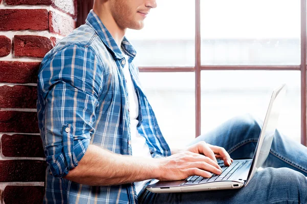
{"label": "man's bare nearer forearm from rolled sleeve to wrist, without the hand", "polygon": [[64,178],[84,185],[110,186],[156,178],[157,170],[154,158],[120,155],[89,145],[78,166]]}

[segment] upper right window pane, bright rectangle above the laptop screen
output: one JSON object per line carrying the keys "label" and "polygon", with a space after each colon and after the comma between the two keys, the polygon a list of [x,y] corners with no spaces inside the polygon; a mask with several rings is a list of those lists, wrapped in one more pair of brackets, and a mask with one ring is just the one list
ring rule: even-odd
{"label": "upper right window pane, bright rectangle above the laptop screen", "polygon": [[202,64],[300,64],[299,0],[202,0]]}

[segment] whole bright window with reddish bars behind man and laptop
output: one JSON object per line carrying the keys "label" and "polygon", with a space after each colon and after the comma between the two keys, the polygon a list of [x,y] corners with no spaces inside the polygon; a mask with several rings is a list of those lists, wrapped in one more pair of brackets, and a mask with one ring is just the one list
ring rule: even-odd
{"label": "whole bright window with reddish bars behind man and laptop", "polygon": [[306,1],[157,4],[144,29],[126,36],[170,145],[186,145],[245,112],[263,120],[281,83],[288,94],[278,129],[306,145]]}

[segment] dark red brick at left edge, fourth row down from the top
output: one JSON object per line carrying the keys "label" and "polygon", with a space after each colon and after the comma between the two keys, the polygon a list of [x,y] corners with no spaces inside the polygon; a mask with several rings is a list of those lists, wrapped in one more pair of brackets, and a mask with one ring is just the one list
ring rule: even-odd
{"label": "dark red brick at left edge, fourth row down from the top", "polygon": [[40,62],[0,61],[0,82],[37,83]]}

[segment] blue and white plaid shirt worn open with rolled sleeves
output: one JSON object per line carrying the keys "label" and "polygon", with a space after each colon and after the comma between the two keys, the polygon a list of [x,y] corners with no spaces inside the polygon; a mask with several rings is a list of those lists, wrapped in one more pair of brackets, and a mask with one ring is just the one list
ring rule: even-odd
{"label": "blue and white plaid shirt worn open with rolled sleeves", "polygon": [[126,38],[121,48],[128,62],[91,10],[86,23],[58,42],[41,62],[37,115],[48,163],[45,203],[138,202],[134,183],[86,186],[63,178],[78,165],[89,144],[131,155],[125,63],[139,101],[138,132],[152,157],[170,155],[133,64],[136,51]]}

